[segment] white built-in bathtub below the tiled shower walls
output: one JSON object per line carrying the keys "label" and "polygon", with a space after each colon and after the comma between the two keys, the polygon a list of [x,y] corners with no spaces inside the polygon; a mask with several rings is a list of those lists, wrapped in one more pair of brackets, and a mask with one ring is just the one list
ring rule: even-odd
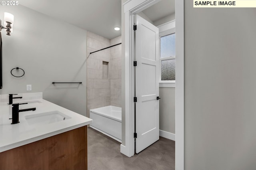
{"label": "white built-in bathtub below the tiled shower walls", "polygon": [[122,142],[122,108],[105,106],[90,110],[91,128]]}

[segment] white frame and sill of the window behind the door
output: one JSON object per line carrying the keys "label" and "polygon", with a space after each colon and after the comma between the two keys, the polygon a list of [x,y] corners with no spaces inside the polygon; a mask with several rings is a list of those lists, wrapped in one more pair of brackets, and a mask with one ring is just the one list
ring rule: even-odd
{"label": "white frame and sill of the window behind the door", "polygon": [[[159,49],[161,49],[161,37],[175,33],[175,20],[167,22],[158,26],[159,28]],[[159,50],[159,87],[175,87],[175,80],[161,80],[162,79],[162,61],[168,59],[176,59],[174,57],[163,57],[161,58],[161,50]]]}

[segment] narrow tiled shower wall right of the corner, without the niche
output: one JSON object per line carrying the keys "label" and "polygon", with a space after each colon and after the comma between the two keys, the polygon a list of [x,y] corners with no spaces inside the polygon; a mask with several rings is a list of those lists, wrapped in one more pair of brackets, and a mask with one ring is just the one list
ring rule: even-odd
{"label": "narrow tiled shower wall right of the corner, without the niche", "polygon": [[[121,36],[110,40],[110,45],[121,43]],[[121,107],[122,45],[110,48],[110,105]]]}

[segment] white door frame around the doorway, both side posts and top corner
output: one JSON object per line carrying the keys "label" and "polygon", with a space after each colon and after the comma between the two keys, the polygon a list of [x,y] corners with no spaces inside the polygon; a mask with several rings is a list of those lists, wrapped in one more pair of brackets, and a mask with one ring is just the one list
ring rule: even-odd
{"label": "white door frame around the doorway, both side posts and top corner", "polygon": [[[134,31],[133,16],[160,0],[128,0],[124,5],[125,24],[125,139],[120,152],[134,155]],[[175,0],[176,88],[175,88],[175,169],[184,170],[184,0]],[[123,106],[122,106],[123,107]],[[122,135],[123,136],[123,135]]]}

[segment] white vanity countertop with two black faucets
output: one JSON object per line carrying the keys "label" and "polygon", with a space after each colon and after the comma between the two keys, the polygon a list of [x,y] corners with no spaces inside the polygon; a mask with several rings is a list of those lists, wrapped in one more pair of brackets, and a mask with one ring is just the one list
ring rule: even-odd
{"label": "white vanity countertop with two black faucets", "polygon": [[[20,112],[20,123],[14,125],[11,125],[12,120],[9,119],[12,117],[12,105],[7,105],[8,102],[3,100],[0,102],[0,152],[4,152],[18,146],[48,138],[50,136],[67,132],[69,130],[83,127],[92,123],[92,119],[84,117],[78,113],[65,109],[64,107],[60,107],[44,99],[32,99],[23,101],[39,101],[41,103],[34,102],[28,103],[26,105],[20,105],[20,109],[36,107],[36,111]],[[18,102],[14,99],[14,103]],[[24,102],[20,100],[19,103]],[[33,115],[50,111],[60,111],[71,117],[71,119],[66,119],[65,121],[59,121],[47,125],[28,125],[28,122],[25,119],[26,115]]]}

